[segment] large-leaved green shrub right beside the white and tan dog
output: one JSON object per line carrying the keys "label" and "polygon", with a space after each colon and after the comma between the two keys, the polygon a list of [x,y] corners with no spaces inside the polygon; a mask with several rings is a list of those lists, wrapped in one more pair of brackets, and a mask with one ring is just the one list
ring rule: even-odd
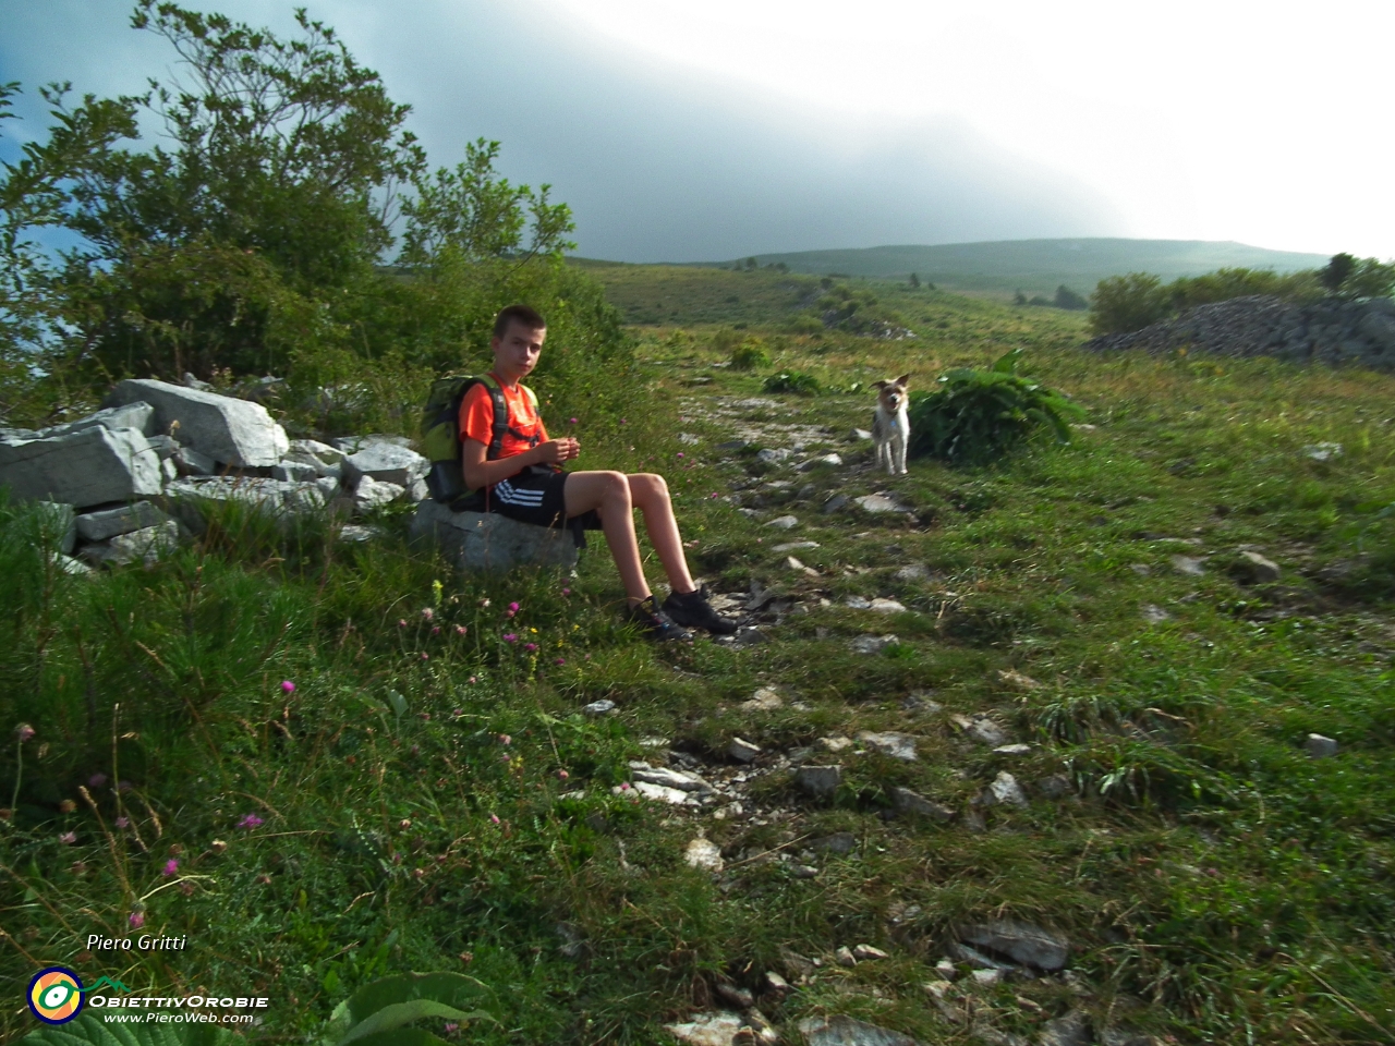
{"label": "large-leaved green shrub right beside the white and tan dog", "polygon": [[1084,417],[1084,409],[1016,374],[1021,354],[1021,349],[1013,349],[990,371],[949,371],[940,375],[939,389],[914,399],[911,455],[979,463],[1006,453],[1041,428],[1069,442],[1069,418]]}

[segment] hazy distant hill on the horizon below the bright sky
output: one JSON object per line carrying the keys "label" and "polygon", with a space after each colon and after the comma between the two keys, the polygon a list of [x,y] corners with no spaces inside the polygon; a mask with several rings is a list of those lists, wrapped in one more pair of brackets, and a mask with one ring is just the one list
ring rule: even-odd
{"label": "hazy distant hill on the horizon below the bright sky", "polygon": [[762,266],[784,262],[791,272],[880,279],[905,279],[914,272],[950,290],[993,294],[1023,290],[1048,297],[1062,283],[1087,294],[1103,278],[1126,272],[1152,272],[1170,280],[1236,266],[1292,272],[1318,268],[1327,261],[1321,254],[1269,251],[1243,243],[1123,238],[997,240],[756,255]]}

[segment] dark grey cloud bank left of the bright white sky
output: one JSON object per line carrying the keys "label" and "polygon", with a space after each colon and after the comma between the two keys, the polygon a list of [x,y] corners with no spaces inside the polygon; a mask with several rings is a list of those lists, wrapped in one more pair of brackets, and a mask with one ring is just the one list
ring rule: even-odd
{"label": "dark grey cloud bank left of the bright white sky", "polygon": [[[191,4],[193,6],[193,4]],[[140,89],[170,53],[110,0],[0,0],[0,79]],[[286,29],[290,6],[213,4]],[[799,109],[665,68],[559,22],[541,0],[311,4],[377,68],[438,165],[502,142],[501,170],[554,185],[579,252],[624,261],[1055,236],[1109,236],[1098,192],[951,121],[872,121]],[[14,17],[18,15],[18,17]],[[32,99],[27,112],[35,112]]]}

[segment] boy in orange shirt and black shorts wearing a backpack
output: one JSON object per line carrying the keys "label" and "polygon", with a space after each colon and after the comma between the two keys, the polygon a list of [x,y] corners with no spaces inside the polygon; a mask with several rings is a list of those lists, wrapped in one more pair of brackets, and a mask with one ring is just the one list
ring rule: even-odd
{"label": "boy in orange shirt and black shorts wearing a backpack", "polygon": [[[537,413],[537,399],[519,382],[537,367],[547,338],[547,324],[527,305],[509,305],[494,321],[492,377],[508,406],[508,431],[498,455],[488,456],[494,438],[494,402],[477,384],[460,402],[460,463],[465,483],[484,491],[485,510],[544,527],[600,530],[610,545],[621,583],[629,597],[628,619],[660,640],[691,640],[686,629],[717,635],[737,630],[707,604],[707,593],[688,573],[684,543],[663,476],[614,471],[565,473],[580,444],[573,437],[550,439]],[[668,575],[672,594],[660,607],[644,580],[635,537],[633,509],[644,516],[644,529],[658,562]]]}

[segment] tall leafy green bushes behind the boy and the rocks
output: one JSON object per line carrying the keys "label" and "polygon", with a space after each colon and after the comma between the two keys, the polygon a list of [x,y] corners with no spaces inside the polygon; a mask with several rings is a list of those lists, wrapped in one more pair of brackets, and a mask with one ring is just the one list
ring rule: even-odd
{"label": "tall leafy green bushes behind the boy and the rocks", "polygon": [[[47,139],[0,167],[0,417],[61,420],[123,377],[271,372],[290,381],[292,421],[405,431],[399,400],[432,370],[487,361],[513,301],[548,318],[540,381],[580,382],[557,395],[594,417],[582,397],[624,384],[631,344],[564,269],[571,211],[498,177],[498,142],[430,172],[409,106],[332,28],[296,18],[279,38],[140,0],[131,24],[167,40],[174,79],[77,105],[43,91]],[[0,88],[0,116],[15,91]],[[162,144],[138,144],[146,121]],[[54,258],[46,230],[78,245]]]}

